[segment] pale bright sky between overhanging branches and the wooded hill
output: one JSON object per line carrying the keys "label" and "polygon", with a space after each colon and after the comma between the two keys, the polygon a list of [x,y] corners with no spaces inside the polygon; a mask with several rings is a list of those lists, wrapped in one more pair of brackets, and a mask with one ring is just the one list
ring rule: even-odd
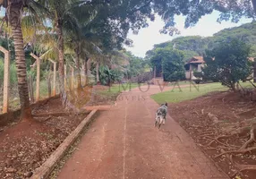
{"label": "pale bright sky between overhanging branches and the wooded hill", "polygon": [[252,19],[241,19],[238,23],[233,23],[231,21],[223,21],[221,23],[217,22],[218,12],[213,12],[201,18],[201,20],[192,28],[184,29],[184,17],[176,16],[175,22],[178,30],[181,34],[178,36],[171,37],[169,35],[160,34],[159,30],[164,27],[164,21],[158,16],[155,21],[149,21],[149,27],[139,31],[138,35],[129,32],[128,38],[132,39],[133,47],[125,47],[127,50],[131,51],[133,55],[144,57],[146,52],[153,48],[155,44],[166,42],[172,40],[173,38],[181,36],[194,36],[200,35],[202,37],[209,37],[217,33],[219,30],[224,30],[226,28],[232,28],[240,26],[244,23],[251,22]]}

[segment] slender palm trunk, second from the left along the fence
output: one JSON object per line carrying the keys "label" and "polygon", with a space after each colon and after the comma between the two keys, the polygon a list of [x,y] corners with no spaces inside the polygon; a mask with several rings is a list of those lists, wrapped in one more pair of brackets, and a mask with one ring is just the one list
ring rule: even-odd
{"label": "slender palm trunk, second from the left along the fence", "polygon": [[57,21],[56,33],[58,36],[58,58],[59,58],[59,81],[60,81],[60,95],[64,94],[64,34],[62,21]]}

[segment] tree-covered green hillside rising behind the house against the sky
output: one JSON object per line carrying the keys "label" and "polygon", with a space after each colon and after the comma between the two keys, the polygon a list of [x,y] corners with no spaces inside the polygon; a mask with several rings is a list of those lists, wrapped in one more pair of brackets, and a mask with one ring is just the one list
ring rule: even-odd
{"label": "tree-covered green hillside rising behind the house against the sky", "polygon": [[[252,46],[251,56],[256,56],[256,22],[246,23],[240,27],[221,30],[213,37],[202,38],[200,36],[188,36],[175,38],[154,46],[156,48],[173,48],[182,50],[184,58],[187,60],[193,55],[203,55],[206,49],[213,49],[219,44],[230,42],[232,39],[239,39]],[[152,55],[152,51],[147,52],[147,56]]]}

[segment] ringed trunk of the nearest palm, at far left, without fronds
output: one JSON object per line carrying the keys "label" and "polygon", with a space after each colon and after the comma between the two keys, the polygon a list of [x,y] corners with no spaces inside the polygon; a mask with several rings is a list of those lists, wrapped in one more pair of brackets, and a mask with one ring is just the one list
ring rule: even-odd
{"label": "ringed trunk of the nearest palm, at far left, without fronds", "polygon": [[18,89],[21,101],[21,119],[30,120],[32,119],[30,109],[30,97],[27,82],[27,69],[25,61],[24,43],[21,31],[21,15],[22,15],[22,2],[16,3],[9,1],[9,21],[13,32],[16,68],[18,76]]}

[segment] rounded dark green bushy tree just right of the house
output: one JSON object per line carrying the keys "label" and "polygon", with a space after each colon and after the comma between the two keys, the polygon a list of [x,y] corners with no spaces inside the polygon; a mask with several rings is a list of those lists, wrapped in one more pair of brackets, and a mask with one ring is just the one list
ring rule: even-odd
{"label": "rounded dark green bushy tree just right of the house", "polygon": [[239,40],[208,50],[204,57],[204,77],[209,81],[220,81],[231,90],[236,90],[235,83],[252,73],[252,63],[248,59],[250,52],[251,47]]}

